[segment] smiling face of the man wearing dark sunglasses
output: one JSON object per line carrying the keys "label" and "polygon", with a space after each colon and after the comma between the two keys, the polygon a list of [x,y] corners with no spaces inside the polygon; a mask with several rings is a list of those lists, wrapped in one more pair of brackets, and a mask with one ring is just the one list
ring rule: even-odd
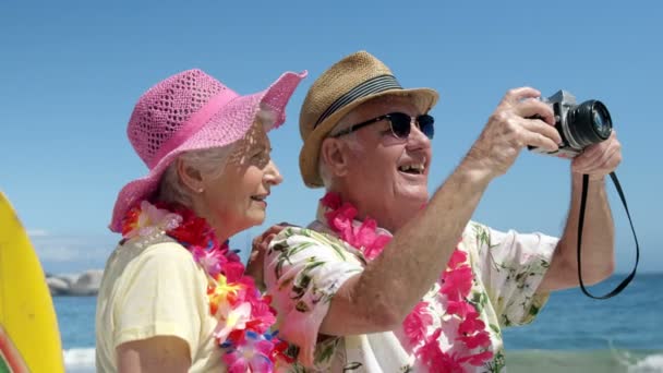
{"label": "smiling face of the man wearing dark sunglasses", "polygon": [[[341,120],[339,127],[346,128],[391,112],[410,117],[424,113],[418,111],[412,98],[394,96],[358,107]],[[405,224],[397,220],[401,217],[409,219],[427,201],[431,141],[414,122],[410,135],[398,139],[386,119],[357,130],[353,135],[358,146],[348,147],[350,161],[346,176],[350,200],[360,205],[360,210],[382,215],[372,217],[385,228],[397,229]]]}

